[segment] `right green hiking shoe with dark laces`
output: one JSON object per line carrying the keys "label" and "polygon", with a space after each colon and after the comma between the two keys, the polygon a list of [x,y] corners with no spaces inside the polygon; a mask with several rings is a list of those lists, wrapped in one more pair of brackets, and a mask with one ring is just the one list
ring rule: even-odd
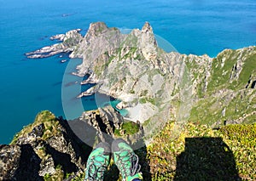
{"label": "right green hiking shoe with dark laces", "polygon": [[115,139],[112,143],[113,161],[119,168],[123,180],[142,180],[140,173],[141,166],[138,164],[138,157],[131,149],[131,146],[124,139]]}

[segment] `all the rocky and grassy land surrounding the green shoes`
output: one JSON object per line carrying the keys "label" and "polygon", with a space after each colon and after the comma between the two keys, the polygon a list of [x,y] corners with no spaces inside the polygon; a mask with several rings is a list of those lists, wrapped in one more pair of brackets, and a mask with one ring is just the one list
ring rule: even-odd
{"label": "all the rocky and grassy land surrounding the green shoes", "polygon": [[[112,106],[73,121],[39,113],[11,144],[0,145],[1,180],[83,180],[92,145],[117,137],[137,151],[144,180],[256,179],[255,46],[216,58],[166,53],[148,23],[123,34],[97,22],[84,37],[74,30],[55,38],[60,42],[26,56],[83,59],[73,75],[90,75],[79,83],[96,85],[79,99],[104,93],[129,114]],[[106,178],[120,179],[116,167]]]}

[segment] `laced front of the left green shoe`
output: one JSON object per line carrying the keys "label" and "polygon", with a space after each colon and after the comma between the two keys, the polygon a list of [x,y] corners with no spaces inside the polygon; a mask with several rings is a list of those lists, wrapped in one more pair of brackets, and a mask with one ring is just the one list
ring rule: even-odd
{"label": "laced front of the left green shoe", "polygon": [[[92,160],[94,160],[94,156],[91,157]],[[95,163],[99,163],[100,166],[96,166]],[[89,166],[89,172],[88,172],[88,180],[89,181],[95,181],[95,180],[103,180],[104,172],[107,169],[108,164],[106,161],[102,164],[102,161],[91,161]],[[100,176],[98,178],[98,176]]]}

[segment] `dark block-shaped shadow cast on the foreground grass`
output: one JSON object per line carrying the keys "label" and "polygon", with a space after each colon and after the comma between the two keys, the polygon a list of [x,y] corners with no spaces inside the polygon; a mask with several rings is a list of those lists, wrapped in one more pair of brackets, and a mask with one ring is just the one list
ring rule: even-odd
{"label": "dark block-shaped shadow cast on the foreground grass", "polygon": [[236,161],[222,138],[186,138],[185,150],[177,156],[175,181],[241,180]]}

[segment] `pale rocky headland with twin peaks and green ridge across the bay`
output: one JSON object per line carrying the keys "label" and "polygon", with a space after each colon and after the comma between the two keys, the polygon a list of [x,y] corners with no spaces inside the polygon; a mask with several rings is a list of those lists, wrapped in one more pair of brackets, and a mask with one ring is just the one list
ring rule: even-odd
{"label": "pale rocky headland with twin peaks and green ridge across the bay", "polygon": [[[55,38],[64,41],[63,35]],[[73,75],[89,74],[80,83],[96,84],[78,93],[78,98],[104,93],[119,99],[118,108],[129,111],[126,120],[149,120],[152,125],[168,120],[180,124],[203,120],[214,127],[242,115],[249,115],[245,122],[255,121],[253,46],[225,49],[216,58],[207,54],[166,53],[158,47],[148,22],[141,30],[128,34],[103,22],[92,23],[85,36],[77,36],[74,42],[77,43],[73,43],[69,56],[81,58],[83,63]],[[161,116],[163,113],[165,117]]]}

